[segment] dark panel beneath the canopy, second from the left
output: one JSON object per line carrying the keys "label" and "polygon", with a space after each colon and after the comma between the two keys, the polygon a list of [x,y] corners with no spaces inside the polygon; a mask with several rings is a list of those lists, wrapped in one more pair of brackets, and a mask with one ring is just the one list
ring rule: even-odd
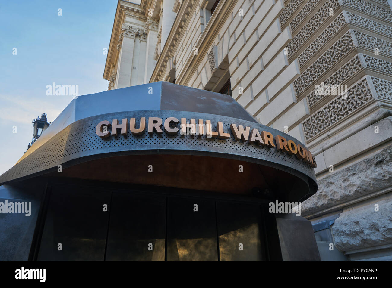
{"label": "dark panel beneath the canopy, second from the left", "polygon": [[166,197],[113,193],[106,260],[165,260]]}

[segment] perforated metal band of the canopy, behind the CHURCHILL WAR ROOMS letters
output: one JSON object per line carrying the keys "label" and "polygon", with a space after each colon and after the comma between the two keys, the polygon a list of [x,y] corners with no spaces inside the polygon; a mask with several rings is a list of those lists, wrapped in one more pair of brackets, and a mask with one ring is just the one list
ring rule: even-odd
{"label": "perforated metal band of the canopy, behind the CHURCHILL WAR ROOMS letters", "polygon": [[[102,120],[111,122],[118,119],[119,122],[123,118],[136,118],[136,127],[139,127],[140,117],[160,117],[165,121],[168,117],[176,117],[177,119],[191,118],[211,120],[212,129],[216,131],[216,123],[223,122],[223,129],[226,133],[230,133],[230,124],[250,126],[257,128],[259,131],[265,130],[272,135],[283,135],[281,131],[263,126],[254,122],[241,119],[225,117],[220,115],[212,115],[205,113],[181,112],[169,110],[147,110],[147,111],[129,111],[97,115],[76,121],[67,126],[52,139],[45,142],[41,147],[36,149],[31,155],[13,166],[2,176],[0,183],[8,182],[20,177],[39,173],[50,168],[56,168],[60,164],[83,158],[79,162],[91,159],[107,157],[107,153],[113,155],[129,155],[129,154],[190,154],[190,155],[206,155],[221,158],[232,158],[244,160],[247,162],[255,162],[270,167],[285,170],[291,174],[309,181],[310,193],[317,191],[316,176],[314,169],[303,160],[299,160],[295,155],[289,155],[276,148],[260,146],[258,144],[249,144],[249,142],[236,141],[230,133],[230,138],[221,140],[216,138],[207,138],[206,135],[169,135],[165,132],[162,134],[153,133],[149,135],[147,131],[142,135],[132,135],[128,131],[127,136],[118,135],[101,139],[96,135],[95,129],[97,124]],[[163,127],[162,127],[163,128]],[[287,140],[291,139],[299,143],[289,135],[285,135]],[[312,194],[313,194],[312,193]]]}

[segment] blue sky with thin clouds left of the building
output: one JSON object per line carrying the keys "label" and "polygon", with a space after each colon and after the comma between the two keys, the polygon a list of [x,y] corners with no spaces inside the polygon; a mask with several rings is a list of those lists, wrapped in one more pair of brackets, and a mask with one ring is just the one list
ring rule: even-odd
{"label": "blue sky with thin clouds left of the building", "polygon": [[73,99],[46,95],[46,85],[78,85],[79,95],[107,90],[103,49],[116,6],[117,0],[1,2],[0,175],[26,151],[33,119],[45,112],[53,121]]}

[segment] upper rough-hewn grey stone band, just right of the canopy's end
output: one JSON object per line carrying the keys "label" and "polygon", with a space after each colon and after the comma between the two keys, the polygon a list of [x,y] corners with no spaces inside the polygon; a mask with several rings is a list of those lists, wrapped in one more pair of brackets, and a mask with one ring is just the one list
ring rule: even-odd
{"label": "upper rough-hewn grey stone band, just right of the canopy's end", "polygon": [[[302,203],[302,215],[392,186],[392,146],[318,181],[319,190]],[[391,211],[391,210],[390,210]]]}

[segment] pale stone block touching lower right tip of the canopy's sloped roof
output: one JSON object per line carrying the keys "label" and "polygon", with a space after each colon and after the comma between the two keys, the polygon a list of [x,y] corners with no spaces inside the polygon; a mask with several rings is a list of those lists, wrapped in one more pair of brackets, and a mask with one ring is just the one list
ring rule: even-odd
{"label": "pale stone block touching lower right tip of the canopy's sloped roof", "polygon": [[294,94],[294,86],[291,84],[282,91],[267,107],[265,107],[258,115],[260,122],[264,125],[270,125],[270,122],[279,116],[287,107],[296,100]]}

